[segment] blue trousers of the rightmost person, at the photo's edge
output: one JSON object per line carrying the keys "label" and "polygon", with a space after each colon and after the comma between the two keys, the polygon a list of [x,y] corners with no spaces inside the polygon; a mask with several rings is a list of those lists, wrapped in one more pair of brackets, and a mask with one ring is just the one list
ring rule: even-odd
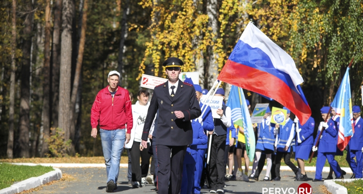
{"label": "blue trousers of the rightmost person, at the photo's edge", "polygon": [[[354,160],[357,160],[355,162]],[[352,169],[352,172],[355,173],[355,178],[363,178],[363,153],[361,150],[351,150],[348,149],[347,152],[347,158],[346,158],[350,168]]]}

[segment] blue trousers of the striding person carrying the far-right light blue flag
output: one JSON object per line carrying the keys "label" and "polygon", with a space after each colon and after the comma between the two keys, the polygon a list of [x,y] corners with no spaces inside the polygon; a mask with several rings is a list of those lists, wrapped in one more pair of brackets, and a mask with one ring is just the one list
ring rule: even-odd
{"label": "blue trousers of the striding person carrying the far-right light blue flag", "polygon": [[323,171],[323,167],[324,167],[327,159],[328,159],[330,167],[333,168],[335,176],[336,177],[341,176],[342,170],[340,169],[338,162],[336,162],[336,160],[334,159],[334,156],[335,156],[335,152],[334,153],[333,152],[325,152],[325,153],[318,152],[317,170],[315,171],[315,179],[318,179],[318,180],[322,179],[321,173]]}

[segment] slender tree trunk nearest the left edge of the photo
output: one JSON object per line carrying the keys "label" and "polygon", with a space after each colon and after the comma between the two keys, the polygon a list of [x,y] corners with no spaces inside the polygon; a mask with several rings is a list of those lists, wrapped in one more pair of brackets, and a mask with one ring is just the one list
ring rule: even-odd
{"label": "slender tree trunk nearest the left edge of the photo", "polygon": [[12,19],[13,29],[12,33],[12,43],[11,43],[11,74],[10,74],[10,105],[9,105],[9,137],[8,137],[8,147],[6,154],[8,158],[13,158],[13,148],[14,148],[14,101],[15,101],[15,49],[16,49],[16,0],[13,0],[13,19]]}

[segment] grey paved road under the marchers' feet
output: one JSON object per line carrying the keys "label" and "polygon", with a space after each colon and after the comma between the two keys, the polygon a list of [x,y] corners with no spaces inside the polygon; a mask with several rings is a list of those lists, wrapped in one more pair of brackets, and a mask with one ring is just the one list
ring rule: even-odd
{"label": "grey paved road under the marchers' feet", "polygon": [[[68,174],[76,178],[73,181],[60,181],[55,184],[44,186],[42,190],[33,193],[37,194],[100,194],[106,193],[106,168],[61,168],[63,174]],[[120,176],[118,182],[118,189],[114,193],[122,194],[156,194],[155,187],[153,185],[146,185],[143,188],[133,189],[127,184],[126,177],[127,168],[120,168]],[[265,174],[262,172],[260,178]],[[262,194],[262,188],[294,188],[297,192],[297,188],[302,182],[294,181],[294,174],[291,171],[281,171],[281,181],[228,181],[225,188],[226,194]],[[323,182],[312,182],[314,178],[314,172],[308,172],[310,178],[309,183],[313,188],[313,193],[323,193],[321,186]],[[347,174],[350,177],[351,174]],[[327,177],[327,173],[323,173],[323,177]],[[208,189],[202,189],[202,193],[208,193]],[[290,191],[291,192],[291,191]],[[266,193],[268,194],[268,193]]]}

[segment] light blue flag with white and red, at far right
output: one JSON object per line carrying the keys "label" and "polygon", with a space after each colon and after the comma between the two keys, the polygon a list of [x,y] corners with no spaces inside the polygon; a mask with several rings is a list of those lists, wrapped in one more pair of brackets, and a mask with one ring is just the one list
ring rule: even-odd
{"label": "light blue flag with white and red, at far right", "polygon": [[352,99],[350,94],[349,67],[340,83],[338,92],[331,104],[336,114],[340,115],[338,148],[344,150],[348,145],[350,136],[353,135]]}

